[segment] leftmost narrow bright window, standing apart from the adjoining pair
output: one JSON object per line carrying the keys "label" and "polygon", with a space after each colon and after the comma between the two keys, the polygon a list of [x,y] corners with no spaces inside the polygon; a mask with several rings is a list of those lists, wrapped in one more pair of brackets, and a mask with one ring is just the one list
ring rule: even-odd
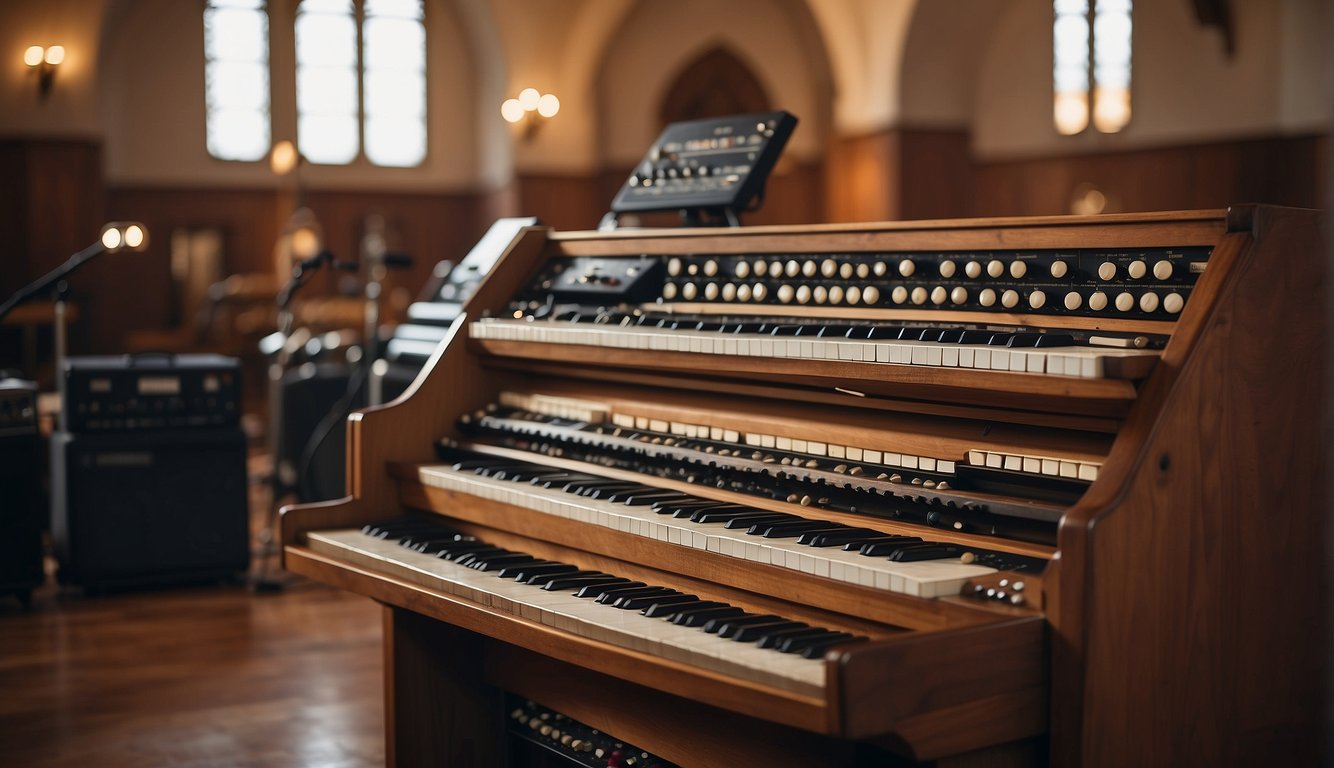
{"label": "leftmost narrow bright window, standing apart from the adjoining pair", "polygon": [[268,152],[268,12],[264,0],[204,5],[208,153],[259,160]]}

